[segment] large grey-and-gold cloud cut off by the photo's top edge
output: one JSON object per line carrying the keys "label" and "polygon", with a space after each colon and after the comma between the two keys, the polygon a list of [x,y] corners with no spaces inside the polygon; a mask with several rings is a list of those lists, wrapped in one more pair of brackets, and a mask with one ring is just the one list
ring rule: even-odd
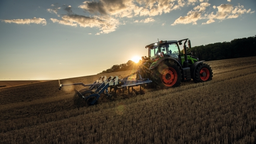
{"label": "large grey-and-gold cloud cut off by the photo's top edge", "polygon": [[[192,0],[192,2],[197,1]],[[133,17],[170,13],[171,10],[180,9],[187,3],[185,0],[99,0],[84,1],[79,7],[93,14]]]}

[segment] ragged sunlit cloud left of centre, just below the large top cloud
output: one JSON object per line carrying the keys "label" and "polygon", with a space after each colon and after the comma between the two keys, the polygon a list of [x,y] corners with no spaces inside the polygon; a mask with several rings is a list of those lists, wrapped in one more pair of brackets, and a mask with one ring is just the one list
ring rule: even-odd
{"label": "ragged sunlit cloud left of centre, just below the large top cloud", "polygon": [[50,19],[53,23],[60,23],[69,26],[81,26],[81,27],[97,27],[101,30],[101,33],[110,33],[116,30],[119,25],[119,21],[111,17],[88,17],[82,15],[66,15],[62,16],[62,20]]}

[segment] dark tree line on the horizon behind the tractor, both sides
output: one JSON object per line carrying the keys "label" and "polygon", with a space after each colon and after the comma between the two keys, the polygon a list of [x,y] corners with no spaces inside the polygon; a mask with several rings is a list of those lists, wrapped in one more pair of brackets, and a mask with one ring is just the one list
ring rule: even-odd
{"label": "dark tree line on the horizon behind the tractor, both sides", "polygon": [[[193,56],[206,61],[256,56],[256,35],[248,38],[233,39],[231,42],[194,46],[189,49],[189,51],[193,52]],[[98,74],[120,72],[137,68],[138,65],[129,60],[120,65],[113,65],[110,69],[106,69]]]}

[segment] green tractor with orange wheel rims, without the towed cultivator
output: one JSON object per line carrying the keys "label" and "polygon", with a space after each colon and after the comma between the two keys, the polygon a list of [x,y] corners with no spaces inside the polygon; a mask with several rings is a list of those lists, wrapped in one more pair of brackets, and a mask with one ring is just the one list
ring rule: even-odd
{"label": "green tractor with orange wheel rims, without the towed cultivator", "polygon": [[[183,52],[179,45],[183,45]],[[186,43],[188,42],[188,47]],[[190,81],[206,82],[212,80],[213,70],[204,61],[199,61],[192,52],[189,39],[179,41],[160,41],[145,47],[148,57],[142,57],[140,74],[142,78],[149,78],[153,82],[142,85],[144,88],[166,89],[177,87],[181,82]]]}

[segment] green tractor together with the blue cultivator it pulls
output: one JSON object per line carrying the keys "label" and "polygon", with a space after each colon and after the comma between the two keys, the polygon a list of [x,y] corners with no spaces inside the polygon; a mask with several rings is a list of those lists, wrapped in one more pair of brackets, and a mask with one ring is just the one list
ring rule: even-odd
{"label": "green tractor together with the blue cultivator it pulls", "polygon": [[[180,50],[179,45],[184,41],[183,50]],[[188,43],[188,47],[186,46]],[[189,39],[179,41],[159,41],[145,47],[148,49],[148,56],[143,56],[139,65],[139,69],[124,78],[119,76],[100,76],[98,80],[92,84],[73,83],[60,84],[59,90],[63,86],[83,85],[80,91],[74,89],[73,97],[75,104],[81,104],[81,101],[86,101],[88,105],[94,105],[101,95],[106,95],[107,98],[113,99],[116,91],[121,89],[128,91],[136,91],[133,87],[140,86],[143,88],[167,89],[180,85],[181,82],[190,81],[206,82],[212,80],[213,70],[208,64],[199,61],[198,58],[192,56],[192,52],[187,52],[191,48]]]}

